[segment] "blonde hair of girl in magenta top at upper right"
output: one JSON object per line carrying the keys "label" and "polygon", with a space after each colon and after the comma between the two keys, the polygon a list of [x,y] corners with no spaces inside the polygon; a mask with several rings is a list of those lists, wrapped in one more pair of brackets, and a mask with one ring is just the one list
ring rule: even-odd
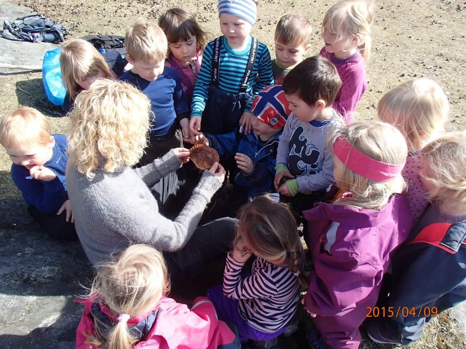
{"label": "blonde hair of girl in magenta top at upper right", "polygon": [[364,62],[370,58],[371,36],[370,27],[374,22],[374,2],[372,0],[343,0],[332,6],[325,13],[322,21],[324,29],[337,34],[337,40],[348,35],[361,35],[358,46]]}

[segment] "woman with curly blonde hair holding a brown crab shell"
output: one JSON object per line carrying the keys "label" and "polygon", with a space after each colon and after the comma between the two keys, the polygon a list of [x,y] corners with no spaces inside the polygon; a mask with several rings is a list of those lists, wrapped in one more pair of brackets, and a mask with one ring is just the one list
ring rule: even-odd
{"label": "woman with curly blonde hair holding a brown crab shell", "polygon": [[70,113],[66,183],[76,230],[93,265],[132,243],[144,243],[164,251],[176,282],[228,250],[236,221],[221,219],[196,228],[225,178],[218,163],[203,173],[178,217],[170,220],[159,213],[148,187],[174,188],[161,180],[188,161],[189,150],[172,149],[131,168],[147,143],[149,111],[147,97],[121,81],[97,80],[80,93]]}

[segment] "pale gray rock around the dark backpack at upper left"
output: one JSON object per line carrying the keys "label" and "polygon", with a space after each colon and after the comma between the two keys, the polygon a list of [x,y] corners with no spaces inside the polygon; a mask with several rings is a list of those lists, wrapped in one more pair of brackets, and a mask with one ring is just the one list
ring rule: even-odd
{"label": "pale gray rock around the dark backpack at upper left", "polygon": [[[2,29],[4,20],[12,21],[31,13],[34,11],[28,7],[0,0],[0,26]],[[42,65],[45,52],[53,50],[55,47],[51,43],[13,41],[0,36],[0,62],[16,65]],[[24,71],[22,69],[0,68],[0,74]]]}

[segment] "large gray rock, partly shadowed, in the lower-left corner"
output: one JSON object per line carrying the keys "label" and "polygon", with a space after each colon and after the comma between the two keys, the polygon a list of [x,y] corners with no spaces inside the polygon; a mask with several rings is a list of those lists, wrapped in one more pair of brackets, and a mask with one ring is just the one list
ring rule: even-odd
{"label": "large gray rock, partly shadowed, in the lower-left corner", "polygon": [[0,200],[0,348],[71,348],[92,268],[79,241],[40,232],[21,200]]}

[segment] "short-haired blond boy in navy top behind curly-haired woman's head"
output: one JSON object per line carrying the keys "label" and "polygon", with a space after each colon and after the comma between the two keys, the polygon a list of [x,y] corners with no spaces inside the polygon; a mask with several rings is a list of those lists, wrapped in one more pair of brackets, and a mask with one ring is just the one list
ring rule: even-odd
{"label": "short-haired blond boy in navy top behind curly-haired woman's head", "polygon": [[149,145],[139,162],[145,165],[170,149],[181,147],[183,137],[189,138],[188,108],[177,72],[164,67],[168,48],[162,29],[138,20],[126,29],[124,42],[126,59],[132,68],[120,79],[136,86],[151,101]]}

